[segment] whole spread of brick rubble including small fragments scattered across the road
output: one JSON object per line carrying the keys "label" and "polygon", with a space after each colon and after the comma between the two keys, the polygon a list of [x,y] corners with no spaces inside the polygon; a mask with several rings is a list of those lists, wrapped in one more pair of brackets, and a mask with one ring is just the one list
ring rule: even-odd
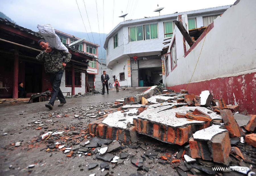
{"label": "whole spread of brick rubble including small fragments scattered across the road", "polygon": [[[127,173],[130,176],[149,175],[169,166],[182,176],[227,173],[213,167],[234,168],[228,171],[234,175],[253,174],[255,115],[246,110],[239,113],[239,106],[213,99],[209,91],[197,96],[185,90],[164,90],[154,96],[158,90],[153,86],[114,104],[40,113],[40,119],[23,126],[41,131],[40,135],[29,143],[13,141],[5,149],[42,146],[49,156],[62,153],[66,158],[91,158],[92,162],[82,165],[88,169],[87,175],[98,170],[101,175],[113,175],[113,169],[128,164],[137,169]],[[52,128],[60,118],[78,122]],[[88,126],[80,120],[87,120]],[[28,169],[33,167],[36,164],[31,163]]]}

